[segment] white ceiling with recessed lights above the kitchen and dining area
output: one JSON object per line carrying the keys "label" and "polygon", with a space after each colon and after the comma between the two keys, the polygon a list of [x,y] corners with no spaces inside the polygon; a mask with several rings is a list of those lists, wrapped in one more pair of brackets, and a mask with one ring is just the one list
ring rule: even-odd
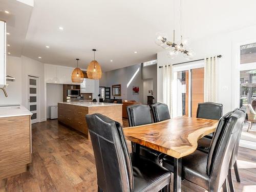
{"label": "white ceiling with recessed lights above the kitchen and dining area", "polygon": [[[0,0],[0,5],[9,8],[9,2],[16,1]],[[178,35],[179,0],[175,2]],[[256,25],[254,0],[183,0],[183,4],[184,36],[191,40]],[[13,10],[20,31],[26,30],[22,26],[25,23],[26,28],[28,22],[27,10],[20,3]],[[22,53],[44,63],[72,67],[75,58],[80,58],[80,67],[87,68],[95,48],[102,70],[109,71],[155,59],[161,50],[154,43],[155,33],[165,31],[172,38],[173,19],[173,0],[35,0],[24,47],[16,43],[18,37],[10,35],[8,42],[13,45],[8,51],[13,56]]]}

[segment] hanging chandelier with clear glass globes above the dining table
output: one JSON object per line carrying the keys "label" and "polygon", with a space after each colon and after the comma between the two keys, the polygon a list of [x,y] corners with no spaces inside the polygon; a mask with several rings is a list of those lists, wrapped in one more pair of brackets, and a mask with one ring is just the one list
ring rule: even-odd
{"label": "hanging chandelier with clear glass globes above the dining table", "polygon": [[163,32],[156,33],[155,43],[161,46],[163,49],[170,49],[168,51],[168,57],[175,58],[179,53],[183,53],[187,59],[193,59],[195,53],[192,49],[187,48],[188,38],[183,38],[183,21],[182,21],[182,0],[180,0],[180,41],[175,42],[175,1],[174,1],[174,33],[173,41],[167,40],[167,34]]}

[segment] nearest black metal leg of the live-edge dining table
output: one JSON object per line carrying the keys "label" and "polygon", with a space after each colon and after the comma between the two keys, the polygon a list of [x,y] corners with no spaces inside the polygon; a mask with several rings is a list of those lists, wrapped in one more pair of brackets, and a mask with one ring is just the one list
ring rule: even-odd
{"label": "nearest black metal leg of the live-edge dining table", "polygon": [[174,192],[181,192],[181,158],[174,158]]}

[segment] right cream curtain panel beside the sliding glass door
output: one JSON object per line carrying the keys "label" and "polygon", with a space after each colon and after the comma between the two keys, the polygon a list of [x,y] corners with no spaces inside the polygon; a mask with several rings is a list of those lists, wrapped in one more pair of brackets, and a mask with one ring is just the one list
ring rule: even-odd
{"label": "right cream curtain panel beside the sliding glass door", "polygon": [[216,102],[217,55],[204,58],[204,102]]}

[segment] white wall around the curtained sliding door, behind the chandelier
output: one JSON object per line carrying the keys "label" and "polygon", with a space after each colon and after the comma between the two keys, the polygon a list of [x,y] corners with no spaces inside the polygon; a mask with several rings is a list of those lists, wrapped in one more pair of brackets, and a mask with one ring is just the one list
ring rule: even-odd
{"label": "white wall around the curtained sliding door, behind the chandelier", "polygon": [[[234,93],[234,78],[232,70],[235,66],[234,57],[232,53],[233,46],[237,42],[252,40],[256,42],[256,26],[244,28],[241,30],[226,32],[220,35],[198,39],[192,42],[191,48],[196,52],[194,60],[209,57],[215,54],[221,54],[217,67],[217,102],[223,103],[223,113],[232,110],[234,107],[239,106],[239,103],[233,102]],[[167,57],[167,50],[157,53],[158,66],[166,65],[170,62],[178,63],[186,61],[183,57],[169,59]],[[162,69],[157,68],[157,84],[158,84],[158,102],[162,102]],[[224,89],[227,87],[227,90]]]}

